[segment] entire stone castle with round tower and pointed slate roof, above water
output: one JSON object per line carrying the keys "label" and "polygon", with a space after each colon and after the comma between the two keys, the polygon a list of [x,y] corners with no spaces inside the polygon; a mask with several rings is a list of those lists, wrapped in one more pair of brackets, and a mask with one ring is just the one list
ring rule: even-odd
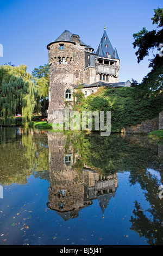
{"label": "entire stone castle with round tower and pointed slate roof, above water", "polygon": [[54,121],[54,111],[64,112],[65,104],[73,103],[73,92],[82,84],[85,96],[101,86],[125,87],[130,81],[119,82],[120,59],[104,33],[95,50],[80,40],[79,35],[65,30],[47,45],[50,82],[48,121]]}

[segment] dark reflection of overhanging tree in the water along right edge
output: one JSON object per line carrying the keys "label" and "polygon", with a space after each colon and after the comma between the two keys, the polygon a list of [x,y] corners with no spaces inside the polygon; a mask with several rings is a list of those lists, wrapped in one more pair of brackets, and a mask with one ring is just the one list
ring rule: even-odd
{"label": "dark reflection of overhanging tree in the water along right edge", "polygon": [[[136,168],[130,168],[130,184],[140,184],[144,191],[147,202],[151,207],[143,210],[140,203],[135,202],[135,208],[131,216],[131,230],[136,231],[140,236],[145,236],[149,245],[161,245],[162,240],[162,200],[158,197],[160,180],[150,172],[150,169],[158,171],[161,176],[163,167],[162,160],[158,155],[158,146],[147,145],[147,147],[140,147],[140,153],[137,154]],[[146,145],[145,145],[146,146]],[[162,177],[161,177],[162,179]]]}

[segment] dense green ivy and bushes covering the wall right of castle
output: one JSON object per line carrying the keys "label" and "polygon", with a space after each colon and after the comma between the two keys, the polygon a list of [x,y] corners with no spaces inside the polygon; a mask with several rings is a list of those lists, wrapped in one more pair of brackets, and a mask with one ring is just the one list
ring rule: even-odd
{"label": "dense green ivy and bushes covering the wall right of castle", "polygon": [[103,88],[88,96],[79,111],[111,111],[111,131],[120,132],[128,125],[158,116],[163,106],[161,94],[151,96],[142,86]]}

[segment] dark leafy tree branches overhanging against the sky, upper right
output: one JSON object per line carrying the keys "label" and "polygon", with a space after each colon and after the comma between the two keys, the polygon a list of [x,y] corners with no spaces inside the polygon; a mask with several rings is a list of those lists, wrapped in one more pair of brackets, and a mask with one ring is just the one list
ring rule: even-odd
{"label": "dark leafy tree branches overhanging against the sky, upper right", "polygon": [[[143,58],[149,55],[150,50],[157,49],[159,53],[159,45],[163,40],[163,8],[154,9],[154,16],[152,17],[153,25],[158,25],[158,29],[147,31],[145,27],[138,33],[134,33],[133,42],[134,48],[139,47],[136,51],[137,62],[140,63]],[[159,54],[153,55],[154,58],[150,60],[149,68],[152,70],[143,78],[142,85],[151,90],[151,92],[160,93],[163,80],[163,58]]]}

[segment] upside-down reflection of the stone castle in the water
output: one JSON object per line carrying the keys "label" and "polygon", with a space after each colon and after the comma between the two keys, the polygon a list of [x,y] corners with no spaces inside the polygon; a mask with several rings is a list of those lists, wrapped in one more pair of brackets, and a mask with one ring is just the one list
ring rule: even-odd
{"label": "upside-down reflection of the stone castle in the water", "polygon": [[103,176],[86,167],[77,172],[72,167],[76,155],[72,145],[65,150],[66,136],[62,133],[48,134],[49,187],[48,207],[58,212],[65,221],[78,217],[79,210],[98,199],[102,212],[118,187],[117,173]]}

